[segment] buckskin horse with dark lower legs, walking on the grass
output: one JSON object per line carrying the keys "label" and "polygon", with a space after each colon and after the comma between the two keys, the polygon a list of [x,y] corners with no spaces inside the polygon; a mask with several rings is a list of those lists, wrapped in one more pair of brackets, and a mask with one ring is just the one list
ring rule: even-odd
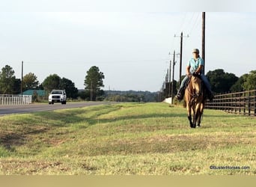
{"label": "buckskin horse with dark lower legs, walking on the grass", "polygon": [[206,94],[198,74],[193,73],[185,91],[186,110],[191,128],[199,127],[204,111]]}

